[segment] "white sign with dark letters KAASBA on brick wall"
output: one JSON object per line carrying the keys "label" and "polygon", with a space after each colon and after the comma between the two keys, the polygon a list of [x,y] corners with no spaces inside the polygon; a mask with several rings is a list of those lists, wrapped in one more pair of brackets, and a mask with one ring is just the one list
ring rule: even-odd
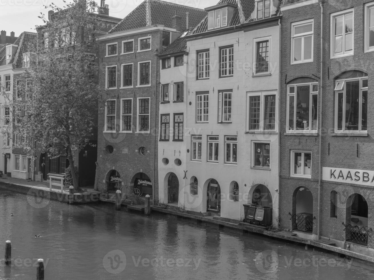
{"label": "white sign with dark letters KAASBA on brick wall", "polygon": [[322,168],[322,180],[374,186],[374,171],[346,168]]}

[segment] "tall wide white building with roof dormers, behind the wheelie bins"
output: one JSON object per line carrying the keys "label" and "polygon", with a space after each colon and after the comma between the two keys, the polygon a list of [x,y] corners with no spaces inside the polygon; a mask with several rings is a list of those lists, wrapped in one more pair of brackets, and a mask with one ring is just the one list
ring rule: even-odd
{"label": "tall wide white building with roof dormers, behind the wheelie bins", "polygon": [[270,225],[278,218],[280,29],[279,1],[267,4],[261,14],[254,1],[220,1],[186,36],[184,206],[243,220],[243,204],[254,203]]}

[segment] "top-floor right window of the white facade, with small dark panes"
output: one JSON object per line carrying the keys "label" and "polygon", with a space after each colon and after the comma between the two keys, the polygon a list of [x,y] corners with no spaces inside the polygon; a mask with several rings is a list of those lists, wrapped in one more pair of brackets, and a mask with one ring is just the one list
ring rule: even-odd
{"label": "top-floor right window of the white facade, with small dark panes", "polygon": [[270,74],[270,37],[253,40],[253,75]]}

